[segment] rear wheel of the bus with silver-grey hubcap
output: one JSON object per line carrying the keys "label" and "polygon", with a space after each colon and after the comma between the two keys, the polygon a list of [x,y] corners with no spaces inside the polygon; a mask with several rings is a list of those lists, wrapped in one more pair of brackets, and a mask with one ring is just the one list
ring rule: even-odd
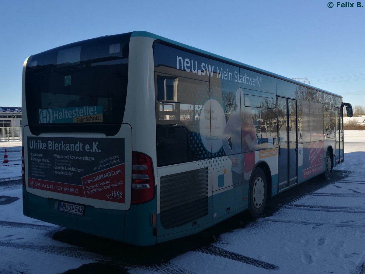
{"label": "rear wheel of the bus with silver-grey hubcap", "polygon": [[257,167],[251,176],[249,186],[249,211],[253,218],[260,217],[264,212],[266,196],[266,176],[264,171]]}

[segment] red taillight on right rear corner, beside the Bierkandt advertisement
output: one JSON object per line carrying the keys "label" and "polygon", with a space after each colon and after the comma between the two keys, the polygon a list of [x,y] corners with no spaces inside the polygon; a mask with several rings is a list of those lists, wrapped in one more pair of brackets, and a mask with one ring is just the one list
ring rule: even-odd
{"label": "red taillight on right rear corner, beside the Bierkandt advertisement", "polygon": [[153,199],[154,187],[151,158],[142,153],[133,152],[131,203],[136,205]]}

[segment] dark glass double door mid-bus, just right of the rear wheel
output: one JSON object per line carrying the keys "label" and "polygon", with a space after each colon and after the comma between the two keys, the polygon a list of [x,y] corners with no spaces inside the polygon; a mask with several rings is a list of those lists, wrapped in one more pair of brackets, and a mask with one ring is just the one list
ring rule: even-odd
{"label": "dark glass double door mid-bus, just right of the rear wheel", "polygon": [[278,111],[278,191],[297,183],[296,100],[277,98]]}

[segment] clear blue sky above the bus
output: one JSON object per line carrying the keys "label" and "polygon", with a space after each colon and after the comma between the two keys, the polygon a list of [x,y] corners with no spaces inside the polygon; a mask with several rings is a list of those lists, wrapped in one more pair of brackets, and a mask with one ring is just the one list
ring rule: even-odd
{"label": "clear blue sky above the bus", "polygon": [[[346,1],[343,1],[345,3]],[[352,1],[350,1],[351,3]],[[0,106],[21,106],[22,65],[56,46],[145,30],[365,106],[364,8],[328,0],[1,1]]]}

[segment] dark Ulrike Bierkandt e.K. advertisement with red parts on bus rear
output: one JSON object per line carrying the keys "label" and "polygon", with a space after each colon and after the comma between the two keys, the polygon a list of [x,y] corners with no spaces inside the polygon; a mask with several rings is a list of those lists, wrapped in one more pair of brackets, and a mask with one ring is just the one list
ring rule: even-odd
{"label": "dark Ulrike Bierkandt e.K. advertisement with red parts on bus rear", "polygon": [[124,203],[124,138],[28,137],[28,187]]}

